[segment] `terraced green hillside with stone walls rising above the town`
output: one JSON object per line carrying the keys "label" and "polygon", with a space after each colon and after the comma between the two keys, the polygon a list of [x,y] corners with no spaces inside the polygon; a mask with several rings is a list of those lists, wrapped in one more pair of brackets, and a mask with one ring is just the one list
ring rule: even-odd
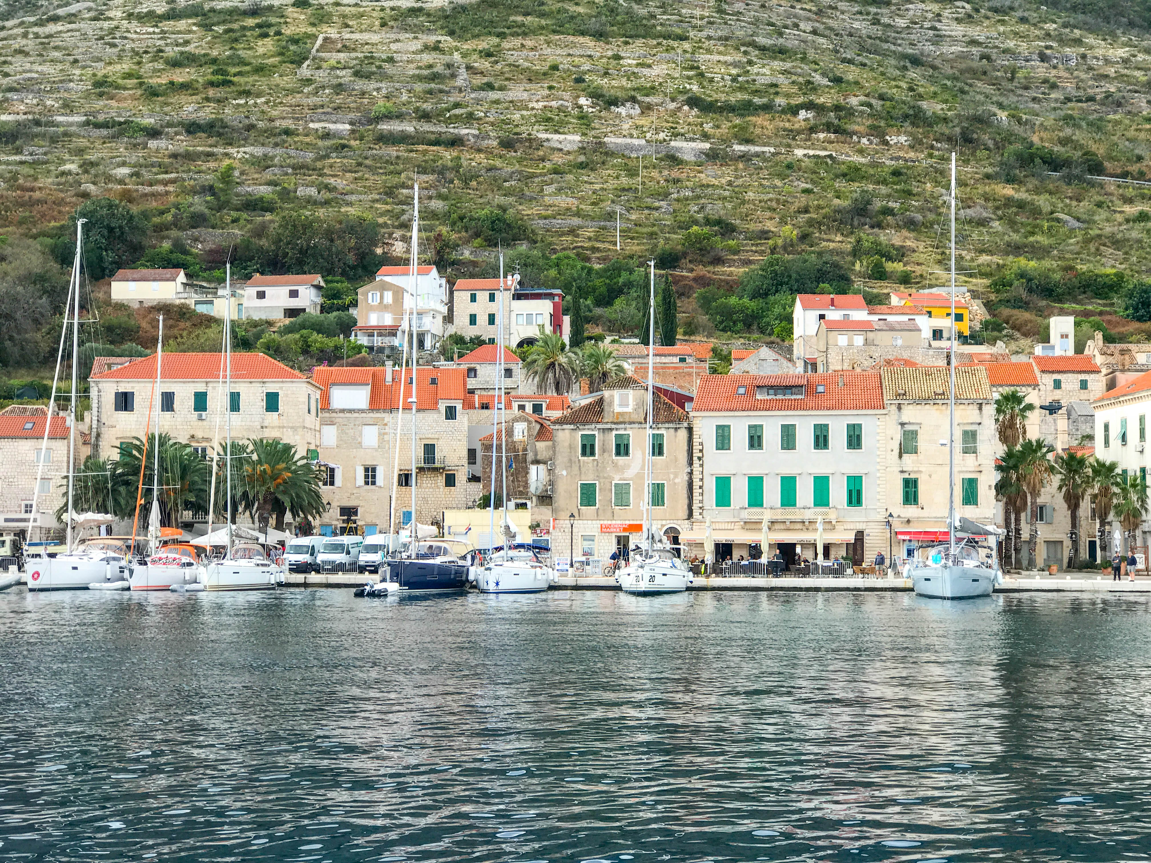
{"label": "terraced green hillside with stone walls rising above the town", "polygon": [[[1146,3],[2,8],[0,223],[46,268],[69,214],[113,198],[137,221],[108,267],[212,281],[234,249],[242,275],[322,268],[336,307],[406,255],[418,175],[421,254],[456,275],[502,240],[626,330],[657,254],[688,331],[786,335],[792,290],[938,284],[955,150],[961,269],[1012,328],[991,341],[1055,307],[1148,337],[1115,313],[1151,318],[1151,185],[1090,180],[1151,175]],[[786,278],[744,275],[772,254]],[[26,293],[5,272],[0,297]],[[0,339],[51,326],[9,305]],[[36,365],[40,341],[0,353]]]}

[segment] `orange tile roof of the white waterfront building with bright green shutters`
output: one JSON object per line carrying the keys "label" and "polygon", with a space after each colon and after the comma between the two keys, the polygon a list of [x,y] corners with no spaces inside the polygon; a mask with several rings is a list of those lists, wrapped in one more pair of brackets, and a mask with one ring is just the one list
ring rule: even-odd
{"label": "orange tile roof of the white waterfront building with bright green shutters", "polygon": [[[823,392],[816,391],[820,385]],[[756,387],[803,387],[803,396],[756,398]],[[883,384],[876,372],[706,375],[695,391],[692,412],[882,411],[883,406]]]}

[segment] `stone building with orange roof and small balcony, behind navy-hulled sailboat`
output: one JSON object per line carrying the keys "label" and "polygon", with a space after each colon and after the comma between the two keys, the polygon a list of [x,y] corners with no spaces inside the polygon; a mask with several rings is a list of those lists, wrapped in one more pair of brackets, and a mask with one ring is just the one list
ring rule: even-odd
{"label": "stone building with orange roof and small balcony, behind navy-hulled sailboat", "polygon": [[[401,392],[403,373],[390,366],[315,369],[328,503],[322,533],[387,533],[389,524],[398,529],[410,520],[411,369]],[[416,518],[421,525],[441,525],[444,510],[464,509],[479,498],[478,487],[466,484],[465,380],[464,369],[417,371]]]}

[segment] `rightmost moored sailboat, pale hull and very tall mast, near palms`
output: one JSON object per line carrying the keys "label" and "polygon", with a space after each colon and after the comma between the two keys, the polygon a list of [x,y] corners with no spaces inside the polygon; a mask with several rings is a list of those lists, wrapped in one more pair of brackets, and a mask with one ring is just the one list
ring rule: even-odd
{"label": "rightmost moored sailboat, pale hull and very tall mast, near palms", "polygon": [[[955,154],[951,154],[951,369],[947,430],[947,542],[921,549],[922,557],[908,567],[920,596],[936,599],[970,599],[990,596],[998,572],[982,559],[978,547],[955,542]],[[967,522],[967,519],[963,519]],[[967,522],[971,524],[971,522]],[[993,529],[991,530],[994,532]],[[998,556],[994,556],[998,557]]]}

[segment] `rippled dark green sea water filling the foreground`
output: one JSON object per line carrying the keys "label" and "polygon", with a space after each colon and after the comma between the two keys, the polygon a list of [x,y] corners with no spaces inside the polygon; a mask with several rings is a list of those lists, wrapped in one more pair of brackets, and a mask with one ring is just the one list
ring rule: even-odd
{"label": "rippled dark green sea water filling the foreground", "polygon": [[1136,861],[1151,603],[0,594],[0,860]]}

